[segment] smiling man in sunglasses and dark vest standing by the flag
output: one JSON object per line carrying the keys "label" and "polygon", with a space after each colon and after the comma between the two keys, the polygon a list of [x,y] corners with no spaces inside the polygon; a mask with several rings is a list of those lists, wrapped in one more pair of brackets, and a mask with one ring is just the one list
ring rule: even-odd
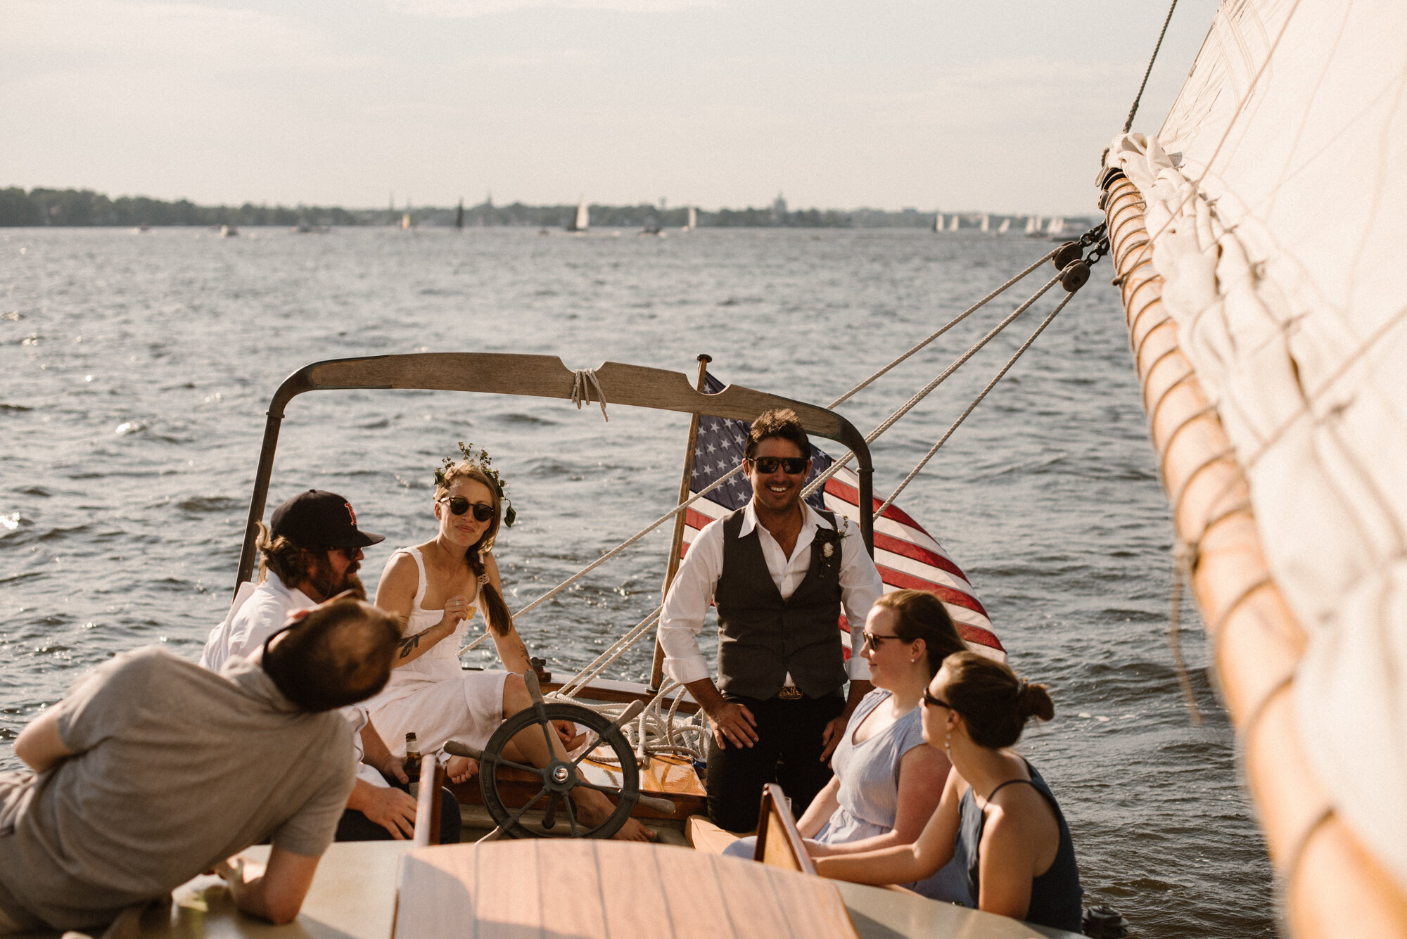
{"label": "smiling man in sunglasses and dark vest standing by the flag", "polygon": [[[729,831],[756,825],[765,783],[779,783],[801,815],[830,779],[830,753],[870,692],[868,663],[846,662],[840,611],[858,649],[884,592],[860,531],[802,502],[810,441],[794,412],[758,416],[744,458],[751,502],[699,531],[660,617],[664,671],[713,725],[709,815]],[[711,600],[718,685],[698,645]]]}

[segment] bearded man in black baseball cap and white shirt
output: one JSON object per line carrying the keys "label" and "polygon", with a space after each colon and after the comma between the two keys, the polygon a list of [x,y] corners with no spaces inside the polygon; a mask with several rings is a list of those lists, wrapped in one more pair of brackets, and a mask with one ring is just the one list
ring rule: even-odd
{"label": "bearded man in black baseball cap and white shirt", "polygon": [[[249,658],[265,640],[305,607],[339,593],[366,599],[356,572],[362,548],[384,536],[357,527],[352,503],[324,489],[308,489],[273,510],[270,527],[259,523],[259,583],[241,583],[225,620],[210,631],[200,663],[219,672],[231,656]],[[393,756],[363,707],[343,710],[352,725],[357,780],[338,825],[338,841],[409,838],[415,832],[415,800],[387,784],[407,783],[402,759]],[[447,798],[446,798],[447,797]],[[459,803],[443,790],[440,842],[459,841]]]}

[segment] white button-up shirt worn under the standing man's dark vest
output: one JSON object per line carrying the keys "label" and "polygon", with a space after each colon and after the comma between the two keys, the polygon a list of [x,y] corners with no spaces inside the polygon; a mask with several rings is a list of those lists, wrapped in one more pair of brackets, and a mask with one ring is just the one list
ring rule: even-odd
{"label": "white button-up shirt worn under the standing man's dark vest", "polygon": [[[777,538],[765,527],[757,524],[757,510],[749,502],[743,507],[743,524],[737,537],[746,537],[757,529],[757,540],[763,548],[763,558],[767,559],[767,572],[777,585],[782,599],[791,599],[801,582],[810,569],[810,543],[816,540],[816,529],[832,527],[805,502],[802,503],[801,534],[796,536],[796,547],[788,558]],[[858,655],[862,644],[865,617],[870,607],[879,595],[884,593],[884,582],[875,562],[865,551],[865,544],[860,538],[860,530],[844,517],[837,516],[840,523],[840,603],[850,623],[850,648],[855,651],[847,662],[847,673],[851,679],[868,679],[870,662]],[[719,578],[723,576],[723,519],[704,527],[684,555],[670,588],[670,596],[664,600],[664,611],[660,614],[660,645],[664,648],[664,673],[675,682],[696,682],[709,678],[708,659],[699,649],[698,637],[704,630],[704,617],[713,602],[713,589]],[[787,685],[792,683],[791,675]]]}

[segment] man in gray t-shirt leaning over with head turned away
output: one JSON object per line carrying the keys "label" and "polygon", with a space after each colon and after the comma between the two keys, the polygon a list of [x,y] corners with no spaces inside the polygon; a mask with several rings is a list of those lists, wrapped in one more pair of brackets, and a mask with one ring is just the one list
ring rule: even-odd
{"label": "man in gray t-shirt leaning over with head turned away", "polygon": [[[386,685],[398,635],[333,600],[218,675],[144,648],[79,680],[15,738],[37,776],[0,790],[0,932],[101,926],[212,867],[241,909],[293,919],[352,790],[333,708]],[[227,857],[265,839],[246,881]]]}

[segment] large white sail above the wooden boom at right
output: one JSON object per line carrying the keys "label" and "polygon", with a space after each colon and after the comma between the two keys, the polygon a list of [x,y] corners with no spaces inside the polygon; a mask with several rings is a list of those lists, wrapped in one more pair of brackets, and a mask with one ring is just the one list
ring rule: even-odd
{"label": "large white sail above the wooden boom at right", "polygon": [[1107,157],[1147,202],[1164,305],[1309,634],[1293,731],[1314,779],[1285,783],[1325,791],[1400,890],[1404,75],[1401,0],[1223,4],[1157,138],[1120,135]]}

